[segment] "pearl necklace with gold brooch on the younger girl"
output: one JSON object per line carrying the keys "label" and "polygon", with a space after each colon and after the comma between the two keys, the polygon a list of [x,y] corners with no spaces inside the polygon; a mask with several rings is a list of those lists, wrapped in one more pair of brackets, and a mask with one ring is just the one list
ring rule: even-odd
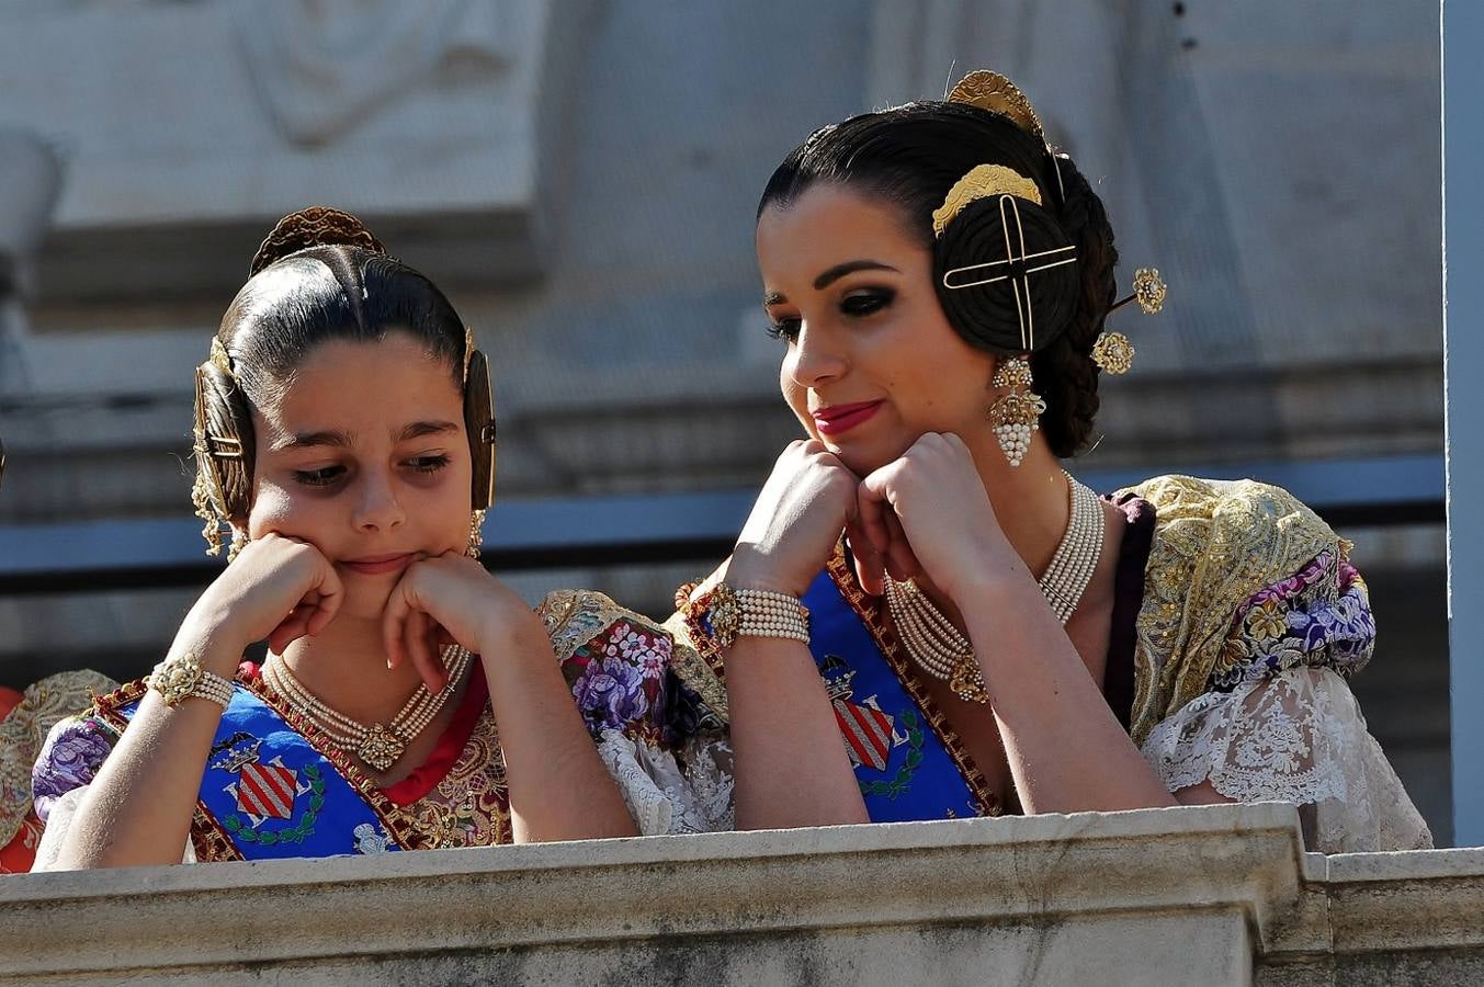
{"label": "pearl necklace with gold brooch on the younger girl", "polygon": [[353,752],[375,770],[384,772],[396,764],[407,745],[427,729],[448,698],[454,695],[454,689],[463,680],[473,656],[463,647],[451,644],[444,649],[442,658],[444,666],[448,669],[445,687],[430,693],[427,686],[418,684],[417,692],[408,696],[401,711],[392,717],[392,723],[372,723],[371,726],[329,708],[294,677],[282,658],[269,656],[269,660],[263,663],[263,678],[289,705],[304,714],[331,744],[341,751]]}

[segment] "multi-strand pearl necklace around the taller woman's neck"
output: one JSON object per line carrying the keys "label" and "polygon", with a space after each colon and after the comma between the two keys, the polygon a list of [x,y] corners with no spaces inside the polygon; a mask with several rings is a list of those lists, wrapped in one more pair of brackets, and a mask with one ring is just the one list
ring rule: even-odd
{"label": "multi-strand pearl necklace around the taller woman's neck", "polygon": [[[1076,611],[1103,557],[1103,505],[1098,496],[1070,473],[1071,509],[1051,565],[1040,577],[1040,592],[1063,625]],[[990,690],[974,656],[974,644],[953,626],[916,582],[886,577],[886,609],[892,614],[902,647],[925,672],[947,680],[965,702],[988,702]]]}

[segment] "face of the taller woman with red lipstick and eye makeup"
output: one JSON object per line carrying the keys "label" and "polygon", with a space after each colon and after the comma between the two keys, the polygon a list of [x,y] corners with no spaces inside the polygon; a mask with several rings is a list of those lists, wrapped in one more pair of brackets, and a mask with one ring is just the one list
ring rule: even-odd
{"label": "face of the taller woman with red lipstick and eye makeup", "polygon": [[788,350],[784,399],[855,473],[925,432],[988,429],[994,358],[948,325],[932,255],[893,203],[813,186],[757,224],[764,306]]}

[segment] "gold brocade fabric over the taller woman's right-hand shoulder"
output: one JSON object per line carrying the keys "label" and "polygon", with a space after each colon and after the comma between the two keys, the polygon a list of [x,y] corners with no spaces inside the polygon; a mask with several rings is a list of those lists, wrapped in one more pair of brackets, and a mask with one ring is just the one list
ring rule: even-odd
{"label": "gold brocade fabric over the taller woman's right-hand shoulder", "polygon": [[1155,540],[1134,652],[1129,735],[1143,745],[1155,724],[1209,689],[1235,660],[1226,646],[1241,604],[1293,576],[1321,552],[1349,543],[1287,490],[1250,479],[1155,476],[1132,493],[1155,506]]}

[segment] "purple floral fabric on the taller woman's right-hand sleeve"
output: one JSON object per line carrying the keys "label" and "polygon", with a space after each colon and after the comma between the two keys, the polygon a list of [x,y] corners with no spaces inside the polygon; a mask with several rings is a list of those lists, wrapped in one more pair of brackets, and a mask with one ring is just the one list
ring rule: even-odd
{"label": "purple floral fabric on the taller woman's right-hand sleeve", "polygon": [[1374,647],[1365,580],[1337,552],[1321,552],[1238,609],[1212,686],[1230,690],[1254,675],[1300,665],[1349,677],[1365,666]]}

